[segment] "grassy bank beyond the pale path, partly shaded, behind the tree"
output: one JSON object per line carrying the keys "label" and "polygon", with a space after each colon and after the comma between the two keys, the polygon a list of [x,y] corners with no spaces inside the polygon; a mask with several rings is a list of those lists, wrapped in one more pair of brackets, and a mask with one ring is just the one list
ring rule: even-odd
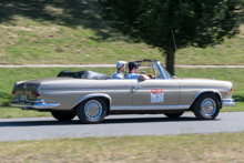
{"label": "grassy bank beyond the pale path, partly shaded, behind the tree", "polygon": [[[133,43],[99,16],[96,0],[2,0],[0,64],[87,64],[160,59],[162,52]],[[244,64],[244,26],[223,44],[179,50],[182,64]],[[177,38],[176,38],[177,40]]]}

